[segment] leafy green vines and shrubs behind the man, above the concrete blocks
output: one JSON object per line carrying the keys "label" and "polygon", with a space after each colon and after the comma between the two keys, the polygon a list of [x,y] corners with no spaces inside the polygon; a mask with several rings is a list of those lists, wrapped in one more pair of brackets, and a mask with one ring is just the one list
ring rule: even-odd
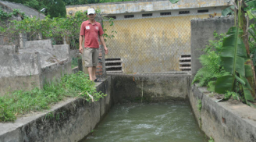
{"label": "leafy green vines and shrubs behind the man, above the concrete blocks", "polygon": [[[100,12],[96,10],[96,12]],[[85,20],[88,20],[86,12],[76,12],[74,16],[65,16],[62,18],[53,18],[47,16],[44,20],[39,20],[35,17],[29,18],[26,17],[21,21],[11,20],[10,24],[1,27],[0,33],[8,37],[16,37],[22,31],[30,35],[29,38],[37,36],[38,33],[42,34],[43,39],[52,39],[52,43],[61,43],[63,38],[69,41],[70,48],[79,48],[79,34],[80,34],[80,25]],[[107,19],[110,26],[113,25],[113,19]],[[103,30],[106,29],[103,27]],[[116,31],[112,31],[112,35],[104,34],[106,38],[115,37],[113,34],[116,34]],[[105,39],[106,40],[106,39]]]}

